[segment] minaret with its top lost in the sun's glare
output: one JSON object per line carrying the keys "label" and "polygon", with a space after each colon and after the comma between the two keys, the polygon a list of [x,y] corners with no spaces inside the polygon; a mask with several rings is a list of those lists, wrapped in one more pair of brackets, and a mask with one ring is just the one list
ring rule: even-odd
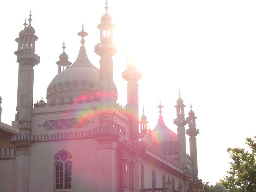
{"label": "minaret with its top lost in the sun's glare", "polygon": [[127,69],[122,77],[127,83],[127,113],[130,118],[130,140],[136,142],[139,138],[139,84],[142,73],[137,66],[127,59]]}

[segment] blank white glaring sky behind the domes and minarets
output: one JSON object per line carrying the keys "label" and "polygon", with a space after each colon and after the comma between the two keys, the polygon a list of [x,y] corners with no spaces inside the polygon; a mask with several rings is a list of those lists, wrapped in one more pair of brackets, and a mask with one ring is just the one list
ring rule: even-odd
{"label": "blank white glaring sky behind the domes and minarets", "polygon": [[[39,3],[40,2],[40,3]],[[4,1],[1,18],[0,96],[2,122],[15,118],[18,63],[14,41],[24,28],[25,16],[32,11],[36,30],[34,101],[43,97],[57,75],[55,64],[65,39],[69,61],[74,62],[80,47],[82,22],[89,59],[99,68],[94,45],[100,41],[96,27],[104,14],[104,0],[97,1]],[[109,14],[116,25],[114,42],[119,52],[113,57],[118,102],[125,105],[125,54],[129,53],[143,72],[139,81],[140,116],[142,107],[153,129],[161,99],[165,124],[177,132],[174,105],[181,98],[189,112],[190,100],[196,113],[199,178],[215,183],[229,168],[227,147],[245,147],[246,137],[254,136],[256,1],[237,0],[109,0]],[[187,140],[188,144],[188,140]],[[187,148],[189,153],[189,148]]]}

